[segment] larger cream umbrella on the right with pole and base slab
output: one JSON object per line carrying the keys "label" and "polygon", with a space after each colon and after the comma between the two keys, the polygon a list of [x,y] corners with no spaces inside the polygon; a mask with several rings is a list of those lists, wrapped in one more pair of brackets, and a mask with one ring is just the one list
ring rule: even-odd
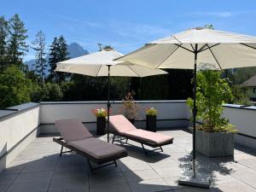
{"label": "larger cream umbrella on the right with pole and base slab", "polygon": [[116,61],[135,62],[150,68],[194,69],[193,177],[179,183],[209,187],[195,177],[197,63],[211,63],[216,69],[256,66],[256,37],[196,27],[155,40]]}

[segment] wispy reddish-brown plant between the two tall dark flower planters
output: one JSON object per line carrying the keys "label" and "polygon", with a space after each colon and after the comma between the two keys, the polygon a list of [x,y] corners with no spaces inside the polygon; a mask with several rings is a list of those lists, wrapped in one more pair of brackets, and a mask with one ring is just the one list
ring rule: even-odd
{"label": "wispy reddish-brown plant between the two tall dark flower planters", "polygon": [[137,118],[137,113],[139,110],[139,105],[134,101],[135,92],[129,91],[127,95],[122,99],[123,106],[120,109],[120,113],[130,120],[134,124],[135,119]]}

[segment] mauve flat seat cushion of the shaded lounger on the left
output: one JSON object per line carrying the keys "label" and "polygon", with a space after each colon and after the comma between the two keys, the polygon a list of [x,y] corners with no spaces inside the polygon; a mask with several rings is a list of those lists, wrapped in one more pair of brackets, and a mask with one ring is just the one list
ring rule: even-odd
{"label": "mauve flat seat cushion of the shaded lounger on the left", "polygon": [[125,148],[119,147],[118,145],[114,145],[112,143],[103,142],[102,140],[94,137],[76,142],[70,142],[68,144],[98,160],[106,159],[108,157],[113,157],[126,152]]}

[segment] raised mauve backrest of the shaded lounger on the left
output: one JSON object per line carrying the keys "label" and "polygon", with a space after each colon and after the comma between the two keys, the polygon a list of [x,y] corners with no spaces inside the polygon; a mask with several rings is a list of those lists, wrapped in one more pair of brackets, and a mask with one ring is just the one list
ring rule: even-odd
{"label": "raised mauve backrest of the shaded lounger on the left", "polygon": [[55,127],[60,131],[61,137],[67,143],[92,137],[90,131],[87,130],[80,119],[56,120]]}

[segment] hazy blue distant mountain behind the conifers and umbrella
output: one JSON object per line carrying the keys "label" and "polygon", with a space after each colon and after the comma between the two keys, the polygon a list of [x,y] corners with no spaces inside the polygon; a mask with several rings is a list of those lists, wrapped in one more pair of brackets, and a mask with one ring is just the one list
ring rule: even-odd
{"label": "hazy blue distant mountain behind the conifers and umbrella", "polygon": [[[72,43],[67,46],[67,52],[69,53],[70,58],[78,57],[81,55],[88,55],[88,50],[84,49],[81,45],[77,43]],[[46,61],[49,60],[49,55],[45,57]],[[29,70],[35,69],[33,64],[35,64],[35,60],[26,61],[25,64],[28,66]],[[49,75],[48,69],[45,71],[46,75]]]}

